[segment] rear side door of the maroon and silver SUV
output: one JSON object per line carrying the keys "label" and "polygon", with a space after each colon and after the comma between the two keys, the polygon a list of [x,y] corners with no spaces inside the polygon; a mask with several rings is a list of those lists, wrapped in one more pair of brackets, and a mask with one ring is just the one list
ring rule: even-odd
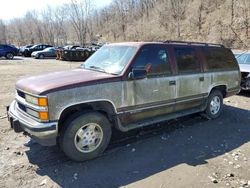
{"label": "rear side door of the maroon and silver SUV", "polygon": [[198,107],[203,102],[205,78],[197,50],[190,46],[173,47],[178,74],[174,111]]}

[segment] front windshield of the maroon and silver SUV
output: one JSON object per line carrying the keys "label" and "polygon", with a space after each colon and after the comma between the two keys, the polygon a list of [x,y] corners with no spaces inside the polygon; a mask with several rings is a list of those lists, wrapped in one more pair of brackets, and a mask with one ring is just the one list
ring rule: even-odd
{"label": "front windshield of the maroon and silver SUV", "polygon": [[109,74],[120,74],[135,52],[136,47],[133,46],[105,45],[90,56],[81,67]]}

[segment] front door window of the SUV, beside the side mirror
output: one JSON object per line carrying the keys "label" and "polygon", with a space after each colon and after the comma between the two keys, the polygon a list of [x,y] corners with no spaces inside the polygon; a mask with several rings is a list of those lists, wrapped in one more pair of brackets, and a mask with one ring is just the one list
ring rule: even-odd
{"label": "front door window of the SUV, beside the side mirror", "polygon": [[166,48],[156,45],[143,47],[134,61],[133,68],[145,68],[148,76],[171,74]]}

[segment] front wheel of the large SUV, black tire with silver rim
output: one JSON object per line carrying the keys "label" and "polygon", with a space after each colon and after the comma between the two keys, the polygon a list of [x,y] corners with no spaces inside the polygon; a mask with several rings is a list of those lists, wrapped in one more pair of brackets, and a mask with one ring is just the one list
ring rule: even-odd
{"label": "front wheel of the large SUV, black tire with silver rim", "polygon": [[111,124],[103,114],[82,113],[69,118],[59,136],[61,149],[74,161],[86,161],[100,156],[111,138]]}

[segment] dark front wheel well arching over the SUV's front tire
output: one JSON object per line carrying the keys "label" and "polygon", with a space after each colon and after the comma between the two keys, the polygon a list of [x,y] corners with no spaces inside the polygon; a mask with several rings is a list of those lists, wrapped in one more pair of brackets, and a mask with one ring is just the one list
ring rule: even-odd
{"label": "dark front wheel well arching over the SUV's front tire", "polygon": [[101,101],[101,102],[90,102],[90,103],[83,103],[83,104],[76,104],[73,106],[70,106],[63,110],[63,112],[60,115],[59,122],[58,122],[58,130],[60,132],[63,123],[73,114],[79,113],[79,112],[89,112],[89,111],[97,111],[99,113],[104,114],[108,120],[111,122],[111,125],[114,125],[115,119],[114,115],[115,109],[114,106],[107,101]]}

